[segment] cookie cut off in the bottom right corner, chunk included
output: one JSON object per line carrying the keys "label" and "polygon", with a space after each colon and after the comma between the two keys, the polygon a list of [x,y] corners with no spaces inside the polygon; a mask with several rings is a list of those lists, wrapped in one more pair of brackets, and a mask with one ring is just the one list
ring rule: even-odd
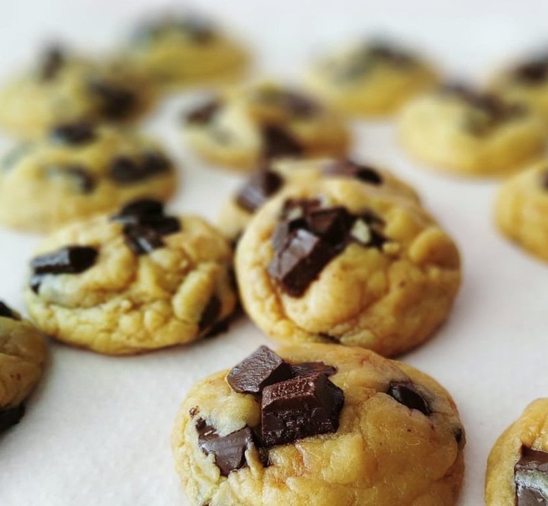
{"label": "cookie cut off in the bottom right corner, chunk included", "polygon": [[489,454],[486,506],[548,505],[548,399],[532,402]]}

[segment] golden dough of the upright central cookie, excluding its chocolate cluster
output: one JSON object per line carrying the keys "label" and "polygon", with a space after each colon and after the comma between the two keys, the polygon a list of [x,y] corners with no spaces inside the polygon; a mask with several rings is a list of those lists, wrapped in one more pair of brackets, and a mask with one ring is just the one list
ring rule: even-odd
{"label": "golden dough of the upright central cookie, excluding its chocolate cluster", "polygon": [[[355,215],[384,220],[382,250],[350,243],[300,297],[284,293],[268,267],[279,213],[288,198],[320,197]],[[293,186],[251,220],[236,250],[242,303],[284,343],[335,340],[392,356],[418,346],[447,317],[460,285],[456,245],[418,204],[353,180]]]}

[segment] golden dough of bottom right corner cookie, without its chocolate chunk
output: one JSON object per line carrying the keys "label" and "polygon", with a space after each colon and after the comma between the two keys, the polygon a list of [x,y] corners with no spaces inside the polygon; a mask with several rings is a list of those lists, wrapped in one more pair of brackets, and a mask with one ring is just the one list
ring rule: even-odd
{"label": "golden dough of bottom right corner cookie, without its chocolate chunk", "polygon": [[489,454],[485,477],[486,506],[514,506],[514,466],[521,447],[548,452],[548,399],[537,399],[504,431]]}

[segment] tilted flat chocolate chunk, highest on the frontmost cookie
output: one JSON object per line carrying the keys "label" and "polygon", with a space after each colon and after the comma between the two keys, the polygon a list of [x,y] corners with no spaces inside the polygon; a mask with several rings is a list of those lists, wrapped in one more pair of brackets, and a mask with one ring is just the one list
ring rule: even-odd
{"label": "tilted flat chocolate chunk, highest on the frontmost cookie", "polygon": [[293,377],[291,366],[261,346],[228,373],[227,381],[240,394],[260,394],[264,387]]}

